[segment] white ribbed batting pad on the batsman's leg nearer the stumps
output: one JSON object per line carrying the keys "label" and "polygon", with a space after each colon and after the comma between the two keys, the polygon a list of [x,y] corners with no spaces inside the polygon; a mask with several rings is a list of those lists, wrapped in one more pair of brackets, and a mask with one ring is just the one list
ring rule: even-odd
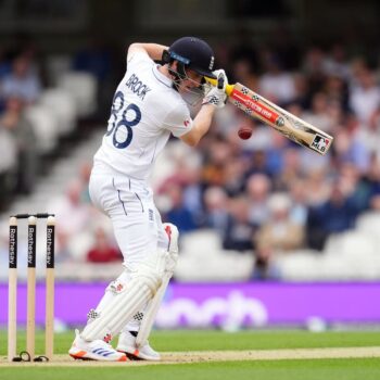
{"label": "white ribbed batting pad on the batsman's leg nearer the stumps", "polygon": [[86,341],[110,340],[141,309],[159,290],[165,271],[168,253],[156,251],[141,263],[124,291],[117,293],[101,311],[99,317],[81,332]]}

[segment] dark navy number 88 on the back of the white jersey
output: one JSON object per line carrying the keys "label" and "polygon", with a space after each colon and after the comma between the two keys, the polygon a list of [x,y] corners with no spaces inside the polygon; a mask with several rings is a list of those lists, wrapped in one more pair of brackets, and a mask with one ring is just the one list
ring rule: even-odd
{"label": "dark navy number 88 on the back of the white jersey", "polygon": [[[113,135],[112,142],[117,149],[124,149],[130,144],[134,137],[132,127],[141,121],[141,111],[136,104],[128,104],[121,115],[123,107],[124,94],[122,91],[117,91],[112,101],[111,117],[109,121],[109,123],[112,123],[112,127],[105,134],[105,136]],[[130,114],[134,114],[135,117],[130,118]],[[113,122],[111,122],[112,118]]]}

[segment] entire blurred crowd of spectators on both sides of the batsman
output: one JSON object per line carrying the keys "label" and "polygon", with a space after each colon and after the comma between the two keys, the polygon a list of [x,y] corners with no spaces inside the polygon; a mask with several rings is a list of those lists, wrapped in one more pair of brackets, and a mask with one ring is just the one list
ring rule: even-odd
{"label": "entire blurred crowd of spectators on both sides of the batsman", "polygon": [[[253,278],[278,276],[270,265],[274,254],[302,248],[320,252],[330,235],[353,229],[362,213],[380,211],[380,62],[350,46],[302,48],[281,37],[265,47],[248,36],[220,43],[215,49],[217,66],[226,68],[230,83],[244,84],[332,135],[330,152],[321,156],[299,147],[227,105],[195,150],[169,141],[168,150],[176,152],[173,170],[154,183],[165,221],[176,224],[182,235],[214,229],[225,250],[254,254]],[[93,50],[84,51],[73,60],[77,69],[92,71],[104,80],[112,65]],[[118,59],[124,64],[123,54]],[[2,202],[9,192],[33,188],[38,155],[23,110],[41,91],[37,62],[30,49],[12,58],[0,49]],[[111,100],[103,100],[102,106]],[[242,126],[252,128],[251,139],[239,139]],[[71,183],[55,205],[58,214],[66,213],[66,220],[77,224],[59,228],[62,248],[67,249],[65,241],[91,218],[87,175]],[[87,259],[121,259],[104,229],[94,228],[93,237]]]}

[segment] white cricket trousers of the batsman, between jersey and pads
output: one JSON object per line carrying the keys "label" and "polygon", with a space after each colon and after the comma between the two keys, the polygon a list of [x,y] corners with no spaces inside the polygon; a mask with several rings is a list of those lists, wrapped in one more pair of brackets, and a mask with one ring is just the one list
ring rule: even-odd
{"label": "white cricket trousers of the batsman, between jersey and pads", "polygon": [[144,181],[92,169],[89,191],[92,203],[112,220],[124,266],[134,271],[149,253],[167,249],[168,238]]}

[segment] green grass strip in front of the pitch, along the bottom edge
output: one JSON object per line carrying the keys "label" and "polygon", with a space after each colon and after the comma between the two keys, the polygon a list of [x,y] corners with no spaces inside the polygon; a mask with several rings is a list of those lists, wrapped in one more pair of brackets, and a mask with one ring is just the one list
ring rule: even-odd
{"label": "green grass strip in front of the pitch, along the bottom edge", "polygon": [[24,367],[1,368],[0,379],[16,380],[378,380],[379,359],[314,359],[271,362],[224,362],[144,367]]}

